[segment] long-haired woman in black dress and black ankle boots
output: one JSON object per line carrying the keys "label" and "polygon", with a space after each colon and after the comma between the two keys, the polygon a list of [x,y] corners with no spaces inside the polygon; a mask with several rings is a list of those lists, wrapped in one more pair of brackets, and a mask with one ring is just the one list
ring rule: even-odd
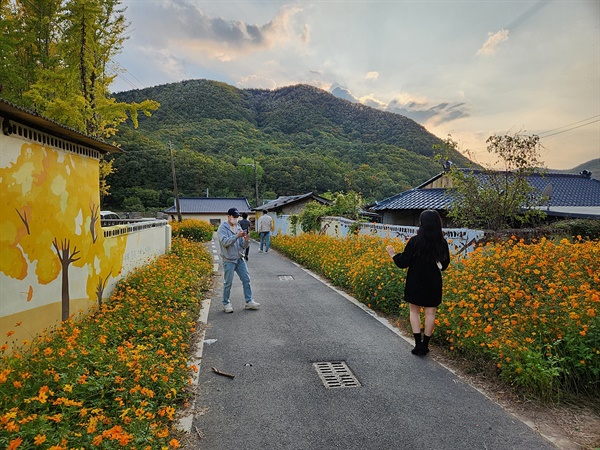
{"label": "long-haired woman in black dress and black ankle boots", "polygon": [[[407,268],[404,300],[410,305],[410,325],[415,337],[413,355],[426,355],[435,326],[436,308],[442,303],[442,270],[450,264],[448,242],[442,232],[437,211],[426,210],[419,216],[419,229],[404,252],[396,253],[388,245],[388,254],[400,268]],[[425,328],[421,340],[421,308],[425,310]]]}

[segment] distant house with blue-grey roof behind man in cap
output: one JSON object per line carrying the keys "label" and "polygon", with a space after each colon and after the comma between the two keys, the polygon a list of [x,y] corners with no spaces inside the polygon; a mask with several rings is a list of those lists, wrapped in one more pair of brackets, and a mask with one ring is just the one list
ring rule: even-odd
{"label": "distant house with blue-grey roof behind man in cap", "polygon": [[[219,197],[182,197],[179,199],[179,209],[183,219],[205,220],[214,226],[219,226],[227,220],[227,211],[230,208],[237,208],[241,213],[248,213],[250,220],[254,219],[254,213],[248,204],[248,200],[243,198],[219,198]],[[177,208],[175,205],[163,211],[170,220],[177,219]]]}

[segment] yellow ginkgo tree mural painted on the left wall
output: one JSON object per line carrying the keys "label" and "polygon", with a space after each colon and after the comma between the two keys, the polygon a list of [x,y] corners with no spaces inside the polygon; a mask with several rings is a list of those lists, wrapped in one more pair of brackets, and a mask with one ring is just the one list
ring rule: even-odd
{"label": "yellow ginkgo tree mural painted on the left wall", "polygon": [[[42,286],[60,278],[60,320],[72,314],[72,288],[100,303],[122,264],[126,236],[105,239],[101,232],[98,171],[97,158],[36,143],[22,143],[0,167],[0,272],[17,280],[35,274]],[[30,284],[26,301],[36,295]]]}

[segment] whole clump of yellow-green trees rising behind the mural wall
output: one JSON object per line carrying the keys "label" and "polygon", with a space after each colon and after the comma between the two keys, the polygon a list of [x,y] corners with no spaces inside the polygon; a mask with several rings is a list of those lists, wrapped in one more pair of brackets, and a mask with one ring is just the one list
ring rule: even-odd
{"label": "whole clump of yellow-green trees rising behind the mural wall", "polygon": [[[125,41],[120,0],[28,0],[2,2],[0,92],[63,125],[99,139],[119,124],[150,115],[157,102],[117,102],[109,86],[118,73],[113,61]],[[5,56],[4,56],[5,55]],[[5,85],[6,83],[6,85]],[[100,159],[100,193],[112,161]]]}

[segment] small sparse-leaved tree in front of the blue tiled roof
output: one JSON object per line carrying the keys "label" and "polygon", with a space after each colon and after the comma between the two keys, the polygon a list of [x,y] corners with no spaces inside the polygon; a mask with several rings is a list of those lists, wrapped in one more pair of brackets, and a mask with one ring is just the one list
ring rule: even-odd
{"label": "small sparse-leaved tree in front of the blue tiled roof", "polygon": [[[535,222],[545,216],[531,195],[528,177],[541,167],[536,135],[490,136],[488,152],[503,170],[465,172],[450,166],[453,203],[448,216],[458,226],[500,230]],[[456,142],[449,137],[447,146]]]}

